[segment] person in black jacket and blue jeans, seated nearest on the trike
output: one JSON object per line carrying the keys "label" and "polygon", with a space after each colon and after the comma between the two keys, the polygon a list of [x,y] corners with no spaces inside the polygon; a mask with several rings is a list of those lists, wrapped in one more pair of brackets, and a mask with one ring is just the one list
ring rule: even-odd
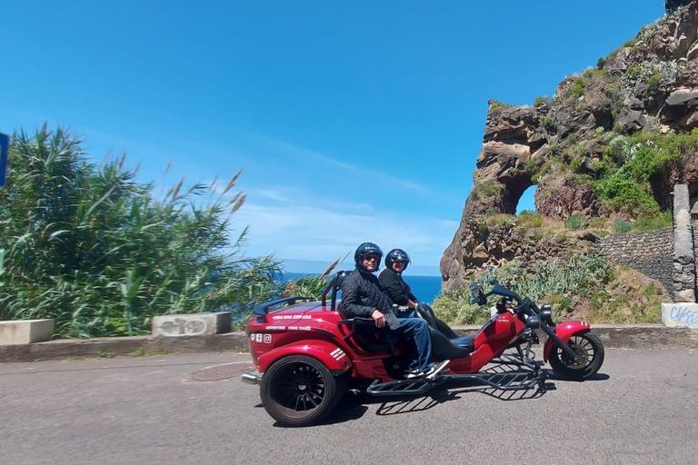
{"label": "person in black jacket and blue jeans, seated nearest on the trike", "polygon": [[407,371],[407,378],[426,377],[433,379],[443,371],[449,361],[434,363],[432,361],[432,338],[429,325],[419,318],[404,318],[398,320],[388,298],[381,290],[378,278],[374,272],[383,257],[383,251],[373,242],[364,242],[354,252],[356,269],[342,283],[342,302],[340,310],[346,318],[373,318],[376,328],[400,338],[414,340],[417,357],[413,359]]}

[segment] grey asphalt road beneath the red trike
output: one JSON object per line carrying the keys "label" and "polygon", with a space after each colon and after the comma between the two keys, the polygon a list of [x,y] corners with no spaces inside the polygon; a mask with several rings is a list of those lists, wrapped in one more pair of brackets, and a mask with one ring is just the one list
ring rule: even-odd
{"label": "grey asphalt road beneath the red trike", "polygon": [[0,364],[0,463],[698,463],[698,351],[607,350],[598,380],[543,395],[351,396],[304,429],[274,425],[239,381],[249,366],[230,354]]}

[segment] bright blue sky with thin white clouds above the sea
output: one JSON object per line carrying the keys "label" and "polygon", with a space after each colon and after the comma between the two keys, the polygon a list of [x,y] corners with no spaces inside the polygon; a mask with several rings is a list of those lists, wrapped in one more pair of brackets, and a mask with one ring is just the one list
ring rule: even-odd
{"label": "bright blue sky with thin white clouds above the sea", "polygon": [[95,160],[125,152],[159,185],[244,167],[234,227],[250,227],[249,255],[330,262],[373,241],[435,273],[487,100],[552,95],[663,1],[5,0],[0,12],[0,132],[64,124]]}

